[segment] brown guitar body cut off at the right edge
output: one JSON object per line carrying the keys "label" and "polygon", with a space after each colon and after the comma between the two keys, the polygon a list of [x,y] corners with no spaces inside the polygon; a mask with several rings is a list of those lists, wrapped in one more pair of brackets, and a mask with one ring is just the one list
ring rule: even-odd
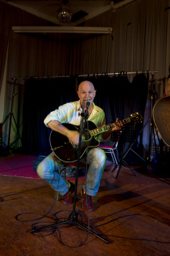
{"label": "brown guitar body cut off at the right edge", "polygon": [[153,118],[161,139],[170,147],[170,96],[155,103]]}

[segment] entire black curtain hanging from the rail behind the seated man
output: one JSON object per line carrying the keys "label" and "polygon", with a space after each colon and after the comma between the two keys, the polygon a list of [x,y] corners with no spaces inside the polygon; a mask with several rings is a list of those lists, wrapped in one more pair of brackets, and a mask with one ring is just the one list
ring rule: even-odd
{"label": "entire black curtain hanging from the rail behind the seated man", "polygon": [[[144,74],[136,75],[132,83],[125,74],[113,77],[77,77],[77,80],[74,76],[42,80],[31,78],[25,82],[24,93],[23,147],[26,152],[49,154],[51,131],[45,127],[44,119],[60,105],[78,100],[76,82],[79,84],[82,80],[89,80],[94,84],[96,88],[94,102],[106,113],[107,124],[113,123],[117,117],[122,120],[130,117],[132,113],[139,111],[144,113],[148,90],[148,78]],[[133,127],[131,141],[139,134],[142,127],[143,123]],[[128,124],[127,130],[129,131]],[[104,144],[113,144],[114,139],[115,136],[112,136],[112,139]],[[120,151],[122,143],[124,142],[119,143]],[[128,148],[129,143],[129,140],[125,141],[125,149]],[[139,148],[142,148],[141,143],[140,139]]]}

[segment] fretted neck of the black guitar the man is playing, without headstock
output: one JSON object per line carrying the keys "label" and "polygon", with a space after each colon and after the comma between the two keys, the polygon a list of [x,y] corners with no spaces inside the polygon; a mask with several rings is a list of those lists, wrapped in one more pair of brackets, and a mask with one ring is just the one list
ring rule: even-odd
{"label": "fretted neck of the black guitar the man is playing, without headstock", "polygon": [[128,118],[125,118],[121,121],[118,121],[118,122],[114,122],[112,124],[107,124],[107,125],[104,125],[102,127],[99,127],[99,128],[96,128],[96,129],[93,129],[91,131],[89,131],[90,135],[94,136],[94,135],[99,135],[103,132],[107,132],[109,131],[110,129],[114,128],[116,126],[116,124],[128,124],[131,122],[131,118],[128,117]]}

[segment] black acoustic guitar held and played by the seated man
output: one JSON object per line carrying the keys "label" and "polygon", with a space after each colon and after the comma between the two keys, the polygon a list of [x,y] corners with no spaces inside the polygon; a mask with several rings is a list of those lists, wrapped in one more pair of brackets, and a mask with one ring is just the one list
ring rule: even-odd
{"label": "black acoustic guitar held and played by the seated man", "polygon": [[[142,121],[143,117],[141,113],[134,113],[131,114],[131,117],[128,117],[122,121],[118,121],[120,124],[128,124],[130,122],[139,122]],[[114,128],[116,125],[115,123],[107,124],[105,126],[96,128],[96,124],[89,121],[89,130],[85,128],[84,132],[82,133],[82,140],[81,140],[81,150],[80,154],[81,157],[85,154],[85,150],[88,148],[94,148],[99,146],[99,141],[97,140],[97,135],[109,131],[111,128]],[[74,124],[65,124],[63,126],[68,128],[71,131],[78,131],[80,132],[80,126]],[[60,161],[64,162],[74,162],[78,161],[78,146],[73,147],[70,141],[67,139],[65,135],[60,134],[60,132],[55,132],[52,130],[49,137],[49,142],[52,148],[53,153],[56,155],[56,158],[60,159]]]}

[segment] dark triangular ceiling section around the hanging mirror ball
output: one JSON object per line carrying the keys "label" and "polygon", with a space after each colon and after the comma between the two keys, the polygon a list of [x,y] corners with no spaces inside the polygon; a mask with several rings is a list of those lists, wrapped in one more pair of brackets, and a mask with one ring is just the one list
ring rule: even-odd
{"label": "dark triangular ceiling section around the hanging mirror ball", "polygon": [[[137,0],[6,0],[5,2],[8,2],[9,5],[23,9],[28,13],[32,13],[37,17],[48,20],[56,25],[77,26],[85,20],[97,17],[99,14],[104,13],[109,9],[116,11],[117,9],[135,1]],[[56,17],[58,9],[62,6],[67,6],[73,15],[69,24],[61,23]]]}

